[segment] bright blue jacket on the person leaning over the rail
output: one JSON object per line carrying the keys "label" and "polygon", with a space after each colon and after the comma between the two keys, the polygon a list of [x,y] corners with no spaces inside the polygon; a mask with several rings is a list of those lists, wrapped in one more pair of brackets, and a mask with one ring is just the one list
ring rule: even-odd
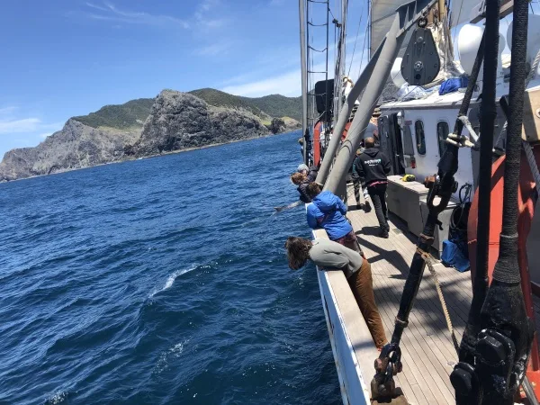
{"label": "bright blue jacket on the person leaning over the rail", "polygon": [[334,193],[320,193],[308,205],[308,225],[310,228],[324,228],[331,240],[343,238],[353,230],[345,214],[347,207]]}

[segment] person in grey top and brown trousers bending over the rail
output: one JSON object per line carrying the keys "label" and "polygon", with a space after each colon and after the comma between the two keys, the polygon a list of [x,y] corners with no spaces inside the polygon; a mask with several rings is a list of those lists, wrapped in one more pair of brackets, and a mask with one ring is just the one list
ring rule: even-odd
{"label": "person in grey top and brown trousers bending over the rail", "polygon": [[316,238],[311,241],[289,237],[285,242],[285,248],[289,267],[293,270],[298,270],[306,264],[308,259],[311,259],[320,269],[343,271],[375,346],[379,350],[382,349],[388,340],[384,333],[383,320],[375,303],[369,262],[358,252],[326,238]]}

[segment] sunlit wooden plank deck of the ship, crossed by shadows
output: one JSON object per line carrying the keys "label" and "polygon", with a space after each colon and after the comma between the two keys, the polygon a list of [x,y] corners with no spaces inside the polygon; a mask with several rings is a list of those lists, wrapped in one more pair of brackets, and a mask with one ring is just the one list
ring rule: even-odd
{"label": "sunlit wooden plank deck of the ship, crossed by shadows", "polygon": [[[383,318],[387,338],[390,339],[403,285],[415,252],[416,238],[392,213],[390,238],[379,238],[374,210],[369,213],[355,210],[356,201],[352,189],[348,192],[348,202],[347,217],[351,220],[365,255],[372,264],[375,300]],[[442,284],[456,338],[461,341],[473,298],[470,273],[459,273],[438,262],[435,269]],[[457,355],[428,269],[420,284],[414,308],[410,312],[409,327],[405,329],[401,339],[401,350],[403,372],[398,374],[395,380],[410,404],[455,404],[455,392],[449,374],[457,362]],[[368,362],[373,367],[373,358],[365,359],[358,355],[356,353],[362,363]]]}

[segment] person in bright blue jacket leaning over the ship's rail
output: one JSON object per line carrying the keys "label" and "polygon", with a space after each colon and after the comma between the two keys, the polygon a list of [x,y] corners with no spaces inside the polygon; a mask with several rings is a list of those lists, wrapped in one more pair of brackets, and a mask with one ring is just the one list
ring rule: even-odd
{"label": "person in bright blue jacket leaning over the ship's rail", "polygon": [[330,240],[356,250],[364,256],[356,240],[355,231],[345,216],[347,207],[338,195],[329,191],[321,192],[320,185],[314,182],[308,185],[306,193],[311,197],[311,204],[307,208],[310,228],[325,229]]}

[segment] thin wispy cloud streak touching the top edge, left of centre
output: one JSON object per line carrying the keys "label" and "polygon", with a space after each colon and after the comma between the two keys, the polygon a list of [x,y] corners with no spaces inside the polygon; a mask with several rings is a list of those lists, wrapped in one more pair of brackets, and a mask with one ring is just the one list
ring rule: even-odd
{"label": "thin wispy cloud streak touching the top edge, left of centre", "polygon": [[185,29],[190,28],[190,24],[186,21],[176,17],[172,17],[170,15],[149,14],[142,12],[133,12],[129,10],[121,10],[112,3],[86,3],[86,6],[95,10],[94,13],[86,14],[88,17],[94,20],[154,26],[176,25]]}

